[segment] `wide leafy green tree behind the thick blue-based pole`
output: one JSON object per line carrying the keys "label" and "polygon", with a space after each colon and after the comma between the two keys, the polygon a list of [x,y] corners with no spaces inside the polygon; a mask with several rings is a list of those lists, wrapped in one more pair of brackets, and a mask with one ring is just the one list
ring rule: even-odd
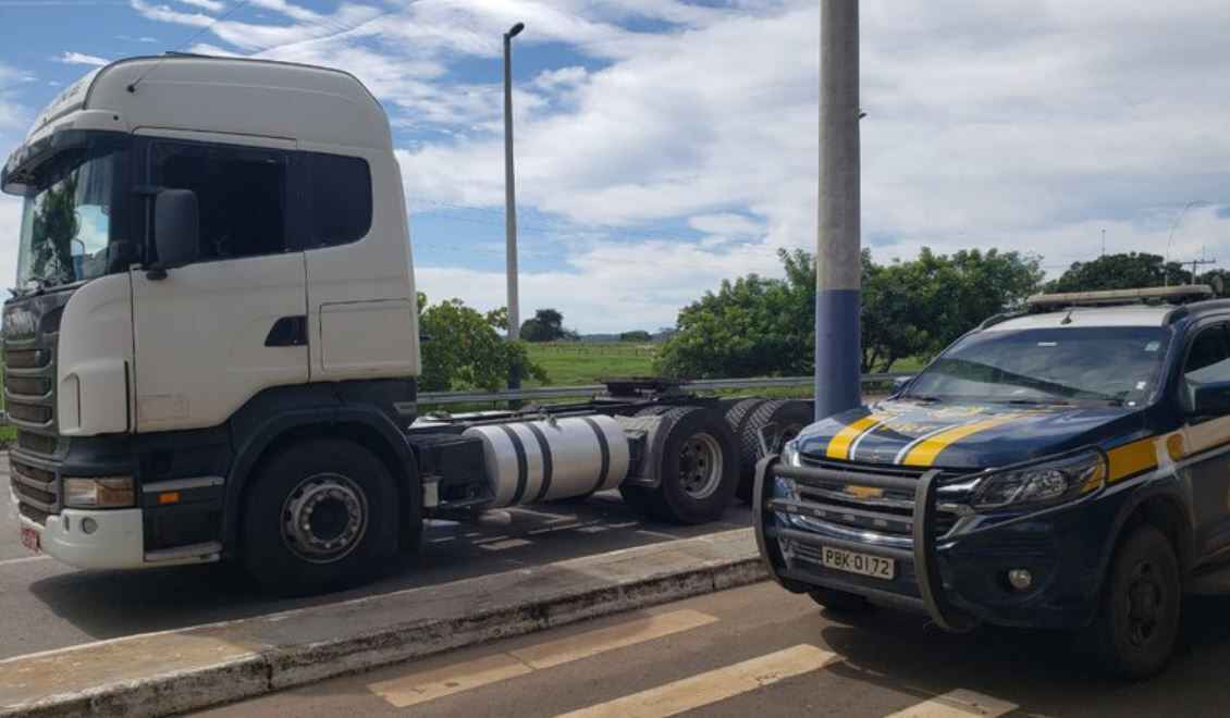
{"label": "wide leafy green tree behind the thick blue-based pole", "polygon": [[[684,307],[658,370],[686,377],[811,374],[815,264],[802,250],[779,257],[785,279],[727,280]],[[1018,306],[1043,275],[1037,258],[996,250],[947,256],[924,248],[914,261],[887,266],[863,252],[862,272],[863,371],[938,352],[986,317]]]}

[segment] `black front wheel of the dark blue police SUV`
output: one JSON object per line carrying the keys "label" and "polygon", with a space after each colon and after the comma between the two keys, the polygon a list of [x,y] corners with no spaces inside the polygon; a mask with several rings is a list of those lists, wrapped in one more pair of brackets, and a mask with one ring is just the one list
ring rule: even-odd
{"label": "black front wheel of the dark blue police SUV", "polygon": [[1178,641],[1178,559],[1154,526],[1135,529],[1114,552],[1097,620],[1090,627],[1100,664],[1140,680],[1166,666]]}

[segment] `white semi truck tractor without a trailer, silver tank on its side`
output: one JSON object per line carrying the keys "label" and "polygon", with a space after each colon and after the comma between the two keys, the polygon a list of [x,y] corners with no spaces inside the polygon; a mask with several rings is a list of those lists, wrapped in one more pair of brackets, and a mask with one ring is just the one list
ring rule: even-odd
{"label": "white semi truck tractor without a trailer, silver tank on its side", "polygon": [[25,198],[10,489],[21,541],[76,567],[232,559],[308,593],[369,579],[432,518],[617,488],[711,521],[749,495],[755,436],[809,419],[661,380],[419,417],[401,171],[343,71],[112,63],[42,112],[0,184]]}

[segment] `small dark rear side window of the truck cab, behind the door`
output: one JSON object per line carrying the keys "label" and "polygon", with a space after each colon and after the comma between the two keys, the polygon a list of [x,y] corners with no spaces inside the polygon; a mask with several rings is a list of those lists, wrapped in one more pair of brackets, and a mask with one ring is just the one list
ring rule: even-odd
{"label": "small dark rear side window of the truck cab, behind the door", "polygon": [[371,229],[371,172],[365,160],[311,152],[309,207],[316,246],[348,245]]}

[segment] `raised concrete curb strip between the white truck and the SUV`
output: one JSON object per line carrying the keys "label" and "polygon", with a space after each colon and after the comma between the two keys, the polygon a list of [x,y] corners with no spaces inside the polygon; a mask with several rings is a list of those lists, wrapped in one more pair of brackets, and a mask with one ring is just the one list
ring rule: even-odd
{"label": "raised concrete curb strip between the white truck and the SUV", "polygon": [[740,529],[105,641],[0,661],[0,717],[181,713],[765,578]]}

